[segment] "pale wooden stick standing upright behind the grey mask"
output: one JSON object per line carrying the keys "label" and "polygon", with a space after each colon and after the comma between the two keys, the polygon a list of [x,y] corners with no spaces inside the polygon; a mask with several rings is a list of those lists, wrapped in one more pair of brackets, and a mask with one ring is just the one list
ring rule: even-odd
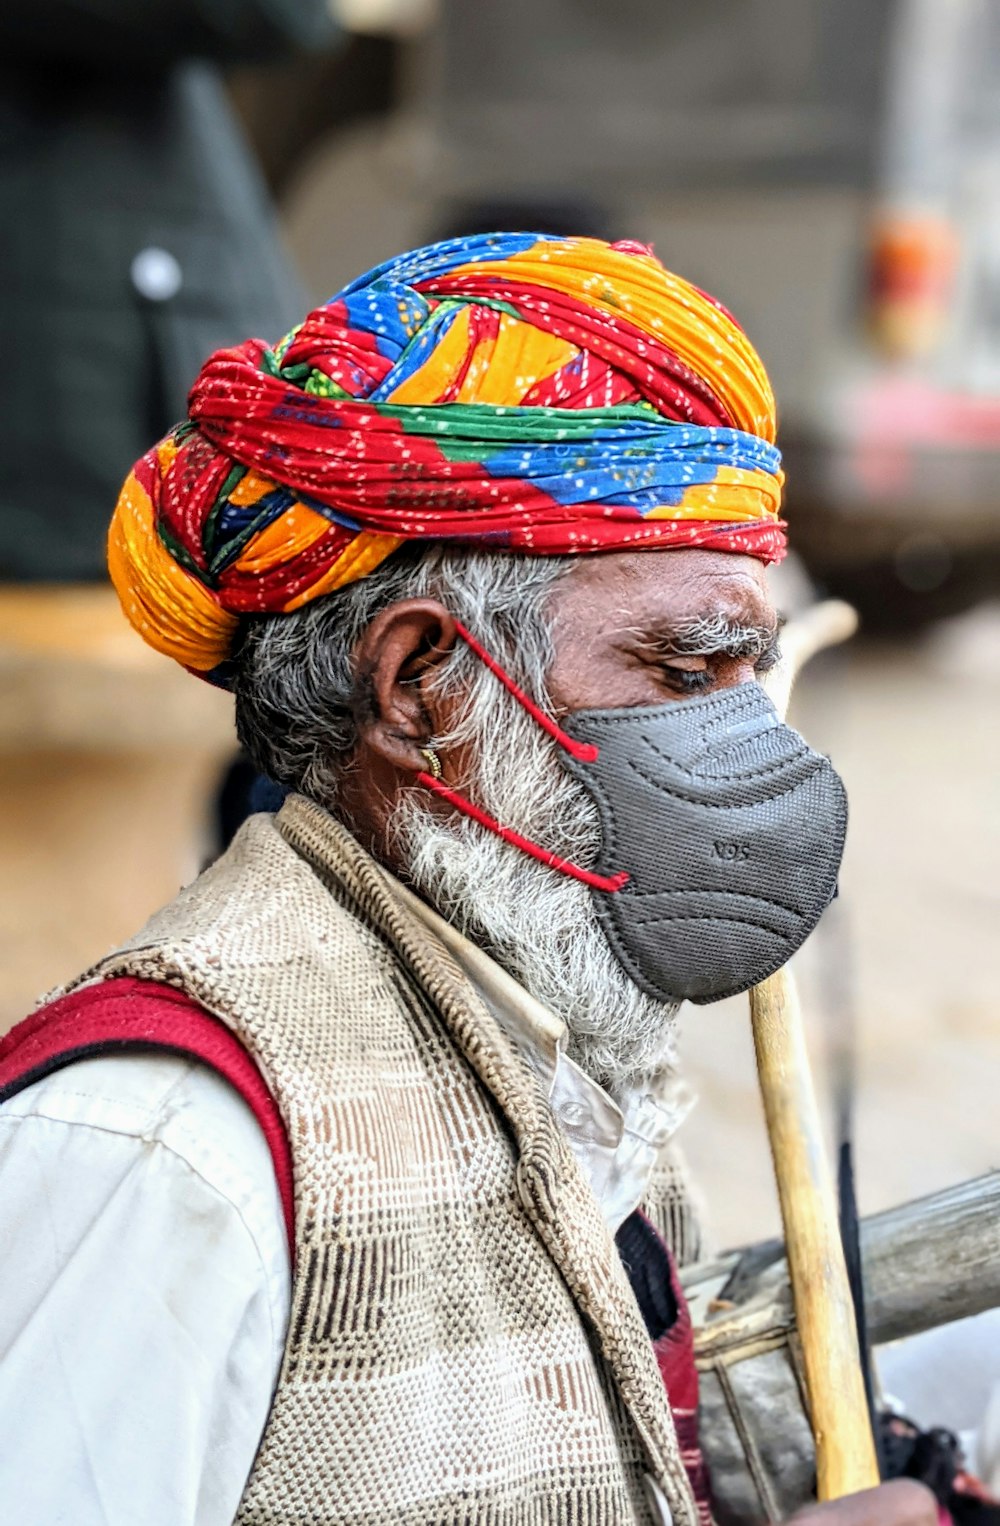
{"label": "pale wooden stick standing upright behind the grey mask", "polygon": [[[782,636],[768,690],[785,713],[797,671],[856,627],[849,604],[814,606]],[[820,1500],[875,1486],[878,1463],[823,1131],[791,969],[750,993],[760,1094],[777,1180],[788,1270],[815,1436]]]}

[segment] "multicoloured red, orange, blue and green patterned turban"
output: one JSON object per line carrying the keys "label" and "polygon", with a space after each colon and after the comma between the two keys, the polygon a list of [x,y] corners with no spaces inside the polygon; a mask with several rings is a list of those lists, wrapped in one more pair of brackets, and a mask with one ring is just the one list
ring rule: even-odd
{"label": "multicoloured red, orange, blue and green patterned turban", "polygon": [[641,244],[496,233],[391,259],[276,349],[220,349],[133,468],[108,566],[197,673],[403,542],[553,555],[710,546],[776,562],[766,374]]}

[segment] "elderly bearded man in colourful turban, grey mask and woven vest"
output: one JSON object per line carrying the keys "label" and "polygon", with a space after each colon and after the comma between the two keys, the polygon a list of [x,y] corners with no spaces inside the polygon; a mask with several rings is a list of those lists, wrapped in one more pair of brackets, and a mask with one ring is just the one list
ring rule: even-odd
{"label": "elderly bearded man in colourful turban, grey mask and woven vest", "polygon": [[438,244],[203,368],[111,575],[293,794],[5,1045],[12,1520],[710,1520],[673,1022],[844,829],[754,682],[780,482],[637,244]]}

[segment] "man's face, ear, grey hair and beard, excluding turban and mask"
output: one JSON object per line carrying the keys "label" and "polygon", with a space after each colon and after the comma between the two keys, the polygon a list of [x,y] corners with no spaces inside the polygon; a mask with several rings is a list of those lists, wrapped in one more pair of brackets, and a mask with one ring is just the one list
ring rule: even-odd
{"label": "man's face, ear, grey hair and beard, excluding turban and mask", "polygon": [[417,783],[434,746],[446,783],[498,821],[582,864],[600,844],[588,794],[456,620],[556,719],[661,705],[769,665],[763,569],[702,549],[576,560],[435,548],[253,623],[237,659],[240,736],[258,766],[340,815],[563,1016],[585,1068],[624,1085],[669,1058],[675,1009],[621,971],[585,885]]}

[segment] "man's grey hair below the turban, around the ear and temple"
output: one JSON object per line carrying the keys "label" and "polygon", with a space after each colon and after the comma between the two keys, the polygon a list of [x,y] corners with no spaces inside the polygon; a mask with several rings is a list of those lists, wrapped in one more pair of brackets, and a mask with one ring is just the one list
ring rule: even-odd
{"label": "man's grey hair below the turban, around the ear and temple", "polygon": [[[528,557],[444,546],[405,546],[357,583],[290,615],[247,621],[235,656],[237,732],[269,778],[336,807],[371,685],[354,649],[376,615],[402,598],[437,598],[539,703],[547,699],[553,647],[545,618],[569,557]],[[440,667],[441,693],[466,697],[449,737],[464,740],[496,679],[463,641]]]}

